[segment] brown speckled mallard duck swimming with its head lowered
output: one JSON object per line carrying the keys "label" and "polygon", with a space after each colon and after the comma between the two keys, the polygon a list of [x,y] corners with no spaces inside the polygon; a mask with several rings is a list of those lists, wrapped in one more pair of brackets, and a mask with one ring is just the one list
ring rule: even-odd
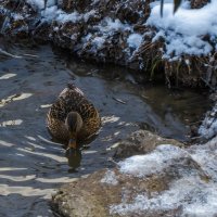
{"label": "brown speckled mallard duck swimming with its head lowered", "polygon": [[48,112],[48,129],[67,149],[77,149],[99,130],[101,120],[97,108],[82,91],[69,84]]}

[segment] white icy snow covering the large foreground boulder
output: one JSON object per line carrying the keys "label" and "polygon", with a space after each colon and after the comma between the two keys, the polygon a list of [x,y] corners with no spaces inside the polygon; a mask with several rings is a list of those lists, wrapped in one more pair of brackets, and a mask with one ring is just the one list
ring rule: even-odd
{"label": "white icy snow covering the large foreground boulder", "polygon": [[[206,144],[193,145],[182,150],[170,144],[157,146],[145,155],[129,157],[119,163],[119,171],[128,176],[144,178],[152,174],[158,175],[166,167],[179,165],[184,156],[191,157],[194,170],[190,171],[183,165],[180,177],[171,180],[168,190],[162,192],[139,192],[131,202],[123,195],[119,204],[110,206],[110,214],[120,216],[137,216],[144,213],[153,215],[156,212],[173,212],[180,209],[179,216],[215,217],[217,214],[217,137]],[[209,177],[204,180],[202,176]],[[145,181],[145,180],[144,180]],[[123,192],[124,194],[124,192]]]}

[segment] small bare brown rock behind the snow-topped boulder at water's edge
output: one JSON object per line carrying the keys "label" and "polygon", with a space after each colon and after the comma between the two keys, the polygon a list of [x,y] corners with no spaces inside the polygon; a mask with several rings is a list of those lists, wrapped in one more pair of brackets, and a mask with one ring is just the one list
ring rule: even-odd
{"label": "small bare brown rock behind the snow-topped boulder at water's edge", "polygon": [[184,146],[183,143],[174,139],[165,139],[146,130],[138,130],[131,133],[128,139],[118,143],[114,156],[117,158],[126,158],[137,154],[146,154],[161,144]]}

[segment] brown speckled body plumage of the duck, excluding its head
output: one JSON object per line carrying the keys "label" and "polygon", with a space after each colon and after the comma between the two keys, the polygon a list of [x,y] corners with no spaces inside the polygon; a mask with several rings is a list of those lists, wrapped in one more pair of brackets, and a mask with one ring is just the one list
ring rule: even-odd
{"label": "brown speckled body plumage of the duck, excluding its head", "polygon": [[100,116],[93,104],[86,99],[80,89],[68,85],[48,112],[48,128],[55,139],[68,141],[69,132],[65,119],[69,112],[77,112],[82,118],[82,127],[77,135],[78,142],[89,139],[100,128]]}

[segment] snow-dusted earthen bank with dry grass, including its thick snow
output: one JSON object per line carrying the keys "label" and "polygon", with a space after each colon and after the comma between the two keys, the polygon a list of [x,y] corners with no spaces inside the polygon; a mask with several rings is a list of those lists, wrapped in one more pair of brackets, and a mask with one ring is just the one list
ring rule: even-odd
{"label": "snow-dusted earthen bank with dry grass, including its thick snow", "polygon": [[49,40],[82,59],[125,65],[151,78],[165,72],[168,85],[215,89],[217,0],[201,9],[191,7],[208,1],[183,2],[175,15],[167,1],[163,17],[159,1],[152,0],[7,2],[0,4],[2,34]]}

